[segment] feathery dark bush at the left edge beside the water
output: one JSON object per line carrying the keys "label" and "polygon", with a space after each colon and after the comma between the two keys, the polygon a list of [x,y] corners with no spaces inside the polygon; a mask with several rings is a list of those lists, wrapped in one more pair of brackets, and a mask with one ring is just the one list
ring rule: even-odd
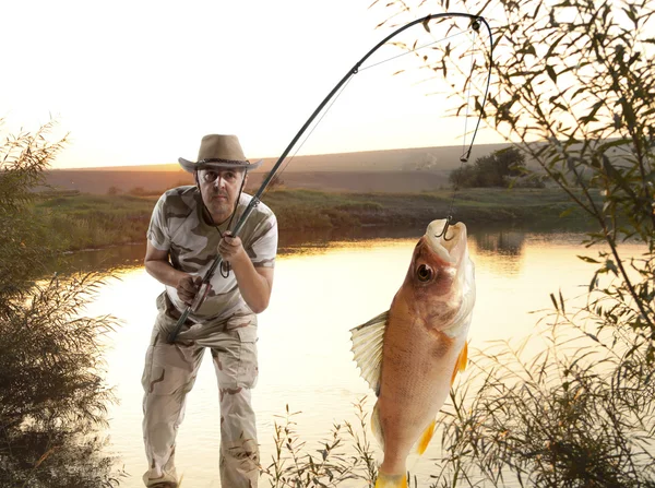
{"label": "feathery dark bush at the left edge beside the water", "polygon": [[50,128],[0,146],[0,485],[117,486],[97,435],[114,400],[98,337],[115,320],[82,316],[99,278],[37,282],[56,251],[31,192],[64,143],[47,141]]}

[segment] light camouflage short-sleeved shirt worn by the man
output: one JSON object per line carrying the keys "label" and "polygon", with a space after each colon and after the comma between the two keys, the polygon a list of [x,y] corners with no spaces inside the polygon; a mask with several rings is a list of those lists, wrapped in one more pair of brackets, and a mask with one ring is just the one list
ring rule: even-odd
{"label": "light camouflage short-sleeved shirt worn by the man", "polygon": [[[252,197],[241,193],[234,215],[233,227]],[[168,251],[176,270],[204,276],[218,255],[221,234],[202,215],[202,197],[195,187],[178,187],[166,191],[157,201],[147,229],[148,241],[160,251]],[[229,219],[228,219],[229,221]],[[218,226],[227,230],[228,222]],[[273,211],[259,203],[239,231],[243,249],[255,267],[273,267],[277,253],[277,221]],[[216,269],[210,282],[211,289],[200,308],[189,313],[196,323],[213,322],[229,317],[239,308],[248,308],[241,297],[234,271],[227,278]],[[180,300],[174,286],[166,286],[170,303],[181,312],[187,305]],[[167,300],[168,301],[168,300]]]}

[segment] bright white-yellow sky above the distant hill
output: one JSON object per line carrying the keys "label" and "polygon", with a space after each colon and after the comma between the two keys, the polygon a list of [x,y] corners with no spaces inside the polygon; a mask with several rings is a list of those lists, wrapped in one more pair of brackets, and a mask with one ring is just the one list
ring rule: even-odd
{"label": "bright white-yellow sky above the distant hill", "polygon": [[[60,168],[194,159],[206,133],[236,133],[249,157],[276,157],[392,32],[376,28],[391,10],[369,3],[4,1],[2,135],[53,116],[56,135],[70,132]],[[425,35],[418,26],[403,40]],[[452,43],[471,46],[472,37]],[[367,64],[401,52],[385,47]],[[443,86],[417,83],[417,68],[410,55],[357,74],[299,154],[461,145],[464,117],[443,117],[461,100],[426,96]],[[400,70],[412,71],[394,76]],[[483,131],[477,142],[501,141]]]}

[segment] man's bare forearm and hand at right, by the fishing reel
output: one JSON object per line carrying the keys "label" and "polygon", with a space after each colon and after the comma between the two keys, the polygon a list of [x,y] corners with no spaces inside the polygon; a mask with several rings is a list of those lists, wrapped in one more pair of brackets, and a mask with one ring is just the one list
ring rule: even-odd
{"label": "man's bare forearm and hand at right, by the fishing reel", "polygon": [[273,289],[273,267],[254,267],[243,249],[241,239],[229,233],[221,239],[218,252],[231,265],[239,285],[239,291],[250,310],[261,313],[269,307]]}

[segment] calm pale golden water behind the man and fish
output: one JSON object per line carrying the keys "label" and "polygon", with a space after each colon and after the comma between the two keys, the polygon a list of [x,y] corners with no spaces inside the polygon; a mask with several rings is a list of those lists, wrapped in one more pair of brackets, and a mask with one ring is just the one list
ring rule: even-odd
{"label": "calm pale golden water behind the man and fish", "polygon": [[[260,316],[260,379],[253,394],[258,412],[262,463],[273,453],[273,425],[288,404],[300,410],[295,417],[307,445],[319,449],[334,422],[354,421],[353,403],[373,396],[352,359],[348,330],[389,308],[400,287],[421,229],[404,229],[389,236],[361,234],[313,236],[314,243],[289,238],[281,249],[274,291],[269,309]],[[476,265],[477,302],[471,329],[471,346],[490,340],[520,338],[528,334],[550,307],[550,293],[579,295],[587,286],[593,267],[576,259],[585,252],[581,235],[524,231],[475,231],[469,250]],[[317,243],[318,242],[318,243]],[[586,250],[588,253],[588,250]],[[155,297],[163,286],[140,264],[142,247],[78,254],[84,269],[119,266],[90,313],[112,313],[123,326],[107,341],[107,381],[116,388],[120,405],[110,408],[111,452],[121,457],[130,475],[124,487],[140,487],[145,468],[141,437],[141,372]],[[212,364],[205,359],[187,403],[178,436],[178,471],[184,487],[218,487],[218,394]],[[373,441],[374,443],[374,441]],[[381,454],[376,445],[378,455]],[[427,481],[440,452],[437,436],[426,454],[409,467]],[[380,459],[381,460],[381,459]],[[413,466],[414,464],[414,466]],[[262,483],[267,486],[267,483]]]}

